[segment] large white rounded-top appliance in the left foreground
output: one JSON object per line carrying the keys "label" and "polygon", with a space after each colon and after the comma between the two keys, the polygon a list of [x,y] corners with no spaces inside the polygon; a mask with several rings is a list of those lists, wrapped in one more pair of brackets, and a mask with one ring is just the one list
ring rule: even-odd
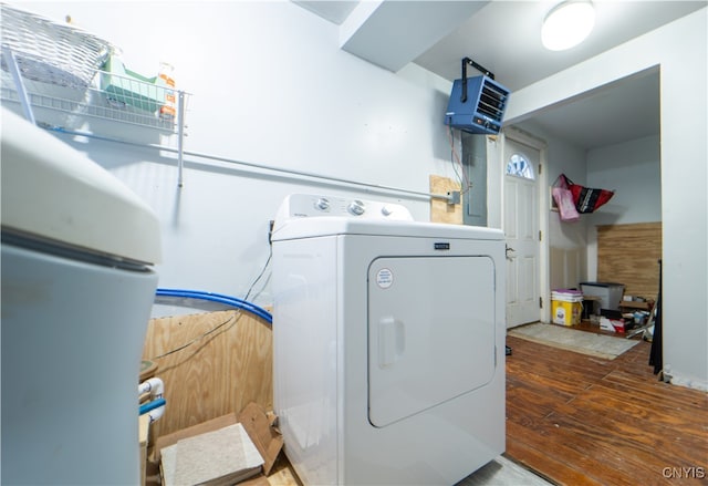
{"label": "large white rounded-top appliance in the left foreground", "polygon": [[140,355],[158,220],[2,111],[2,484],[139,484]]}

